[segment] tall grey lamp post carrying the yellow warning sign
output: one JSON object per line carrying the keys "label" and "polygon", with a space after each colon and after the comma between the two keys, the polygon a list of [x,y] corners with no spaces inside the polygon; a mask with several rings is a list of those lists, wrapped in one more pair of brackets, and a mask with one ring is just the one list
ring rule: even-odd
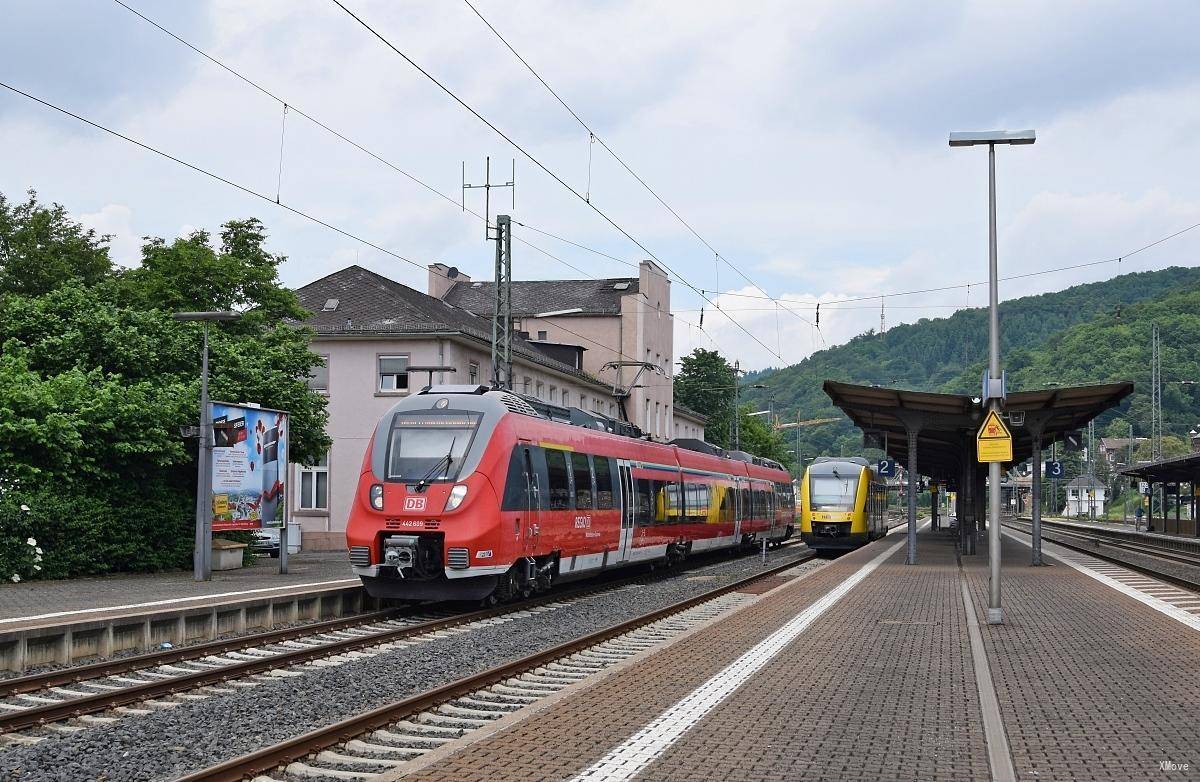
{"label": "tall grey lamp post carrying the yellow warning sign", "polygon": [[[996,261],[996,145],[1032,144],[1033,131],[986,131],[982,133],[950,133],[950,146],[988,145],[988,408],[1001,413],[1003,399],[994,393],[1000,385],[1000,284]],[[1004,613],[1000,602],[1000,462],[988,464],[988,560],[991,583],[988,596],[988,624],[1001,625]]]}

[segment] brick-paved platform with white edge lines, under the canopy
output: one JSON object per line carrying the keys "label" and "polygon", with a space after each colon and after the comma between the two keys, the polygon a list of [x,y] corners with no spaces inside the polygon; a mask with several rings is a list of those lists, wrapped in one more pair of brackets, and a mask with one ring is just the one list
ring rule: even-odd
{"label": "brick-paved platform with white edge lines, under the canopy", "polygon": [[960,561],[954,533],[925,524],[910,566],[904,541],[776,586],[403,778],[1200,774],[1200,595],[1049,542],[1032,567],[1006,530],[1006,621],[989,626],[986,542]]}

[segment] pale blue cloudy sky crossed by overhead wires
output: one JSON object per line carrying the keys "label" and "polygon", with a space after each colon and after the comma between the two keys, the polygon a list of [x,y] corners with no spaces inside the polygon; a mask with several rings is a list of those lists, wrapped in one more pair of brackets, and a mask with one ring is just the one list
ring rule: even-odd
{"label": "pale blue cloudy sky crossed by overhead wires", "polygon": [[892,327],[985,303],[988,155],[947,137],[992,128],[1038,136],[996,152],[1002,277],[1128,255],[1002,299],[1200,264],[1200,228],[1134,253],[1200,223],[1192,1],[472,0],[682,219],[462,0],[343,2],[524,152],[331,0],[122,1],[276,96],[114,0],[0,0],[0,82],[245,188],[0,89],[0,193],[62,204],[122,265],[144,236],[256,216],[288,285],[354,263],[420,290],[434,261],[490,278],[462,167],[508,181],[515,160],[491,213],[518,222],[516,278],[653,258],[676,357],[785,366],[881,308]]}

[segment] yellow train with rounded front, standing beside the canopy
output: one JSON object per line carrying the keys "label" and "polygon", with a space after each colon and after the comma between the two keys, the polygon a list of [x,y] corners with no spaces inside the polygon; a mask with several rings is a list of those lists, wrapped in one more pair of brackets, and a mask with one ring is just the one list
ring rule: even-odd
{"label": "yellow train with rounded front, standing beside the canopy", "polygon": [[800,540],[848,551],[887,535],[887,488],[860,457],[818,457],[800,481]]}

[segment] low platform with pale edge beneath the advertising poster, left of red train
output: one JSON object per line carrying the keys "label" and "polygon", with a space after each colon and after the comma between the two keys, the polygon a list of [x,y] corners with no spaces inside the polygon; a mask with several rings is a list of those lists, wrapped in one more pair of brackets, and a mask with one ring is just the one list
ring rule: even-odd
{"label": "low platform with pale edge beneath the advertising poster, left of red train", "polygon": [[0,672],[340,616],[368,602],[344,552],[293,554],[286,575],[263,558],[208,582],[176,571],[4,584]]}

